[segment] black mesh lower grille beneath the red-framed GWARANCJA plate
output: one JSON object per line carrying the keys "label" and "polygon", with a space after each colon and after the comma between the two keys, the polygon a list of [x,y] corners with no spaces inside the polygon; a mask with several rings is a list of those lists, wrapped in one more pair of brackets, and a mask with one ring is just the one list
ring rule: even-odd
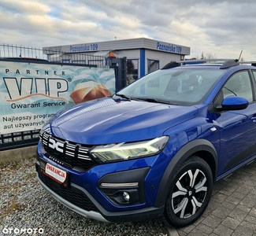
{"label": "black mesh lower grille beneath the red-framed GWARANCJA plate", "polygon": [[98,208],[91,202],[91,200],[83,193],[83,191],[76,189],[75,187],[65,187],[59,183],[56,183],[53,179],[50,179],[48,176],[43,175],[41,171],[38,171],[39,178],[43,183],[53,190],[54,193],[58,194],[60,197],[64,198],[66,201],[69,201],[73,205],[83,208],[86,211],[95,211],[98,212]]}

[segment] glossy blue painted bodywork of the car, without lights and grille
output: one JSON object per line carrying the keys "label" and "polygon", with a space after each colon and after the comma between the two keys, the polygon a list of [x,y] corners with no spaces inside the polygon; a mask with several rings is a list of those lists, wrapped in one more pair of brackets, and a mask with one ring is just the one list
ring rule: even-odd
{"label": "glossy blue painted bodywork of the car, without lights and grille", "polygon": [[[212,69],[199,65],[197,68]],[[256,103],[250,103],[247,109],[238,111],[210,110],[211,102],[226,80],[242,68],[251,69],[249,66],[224,69],[224,74],[214,83],[213,89],[196,105],[181,106],[124,98],[102,98],[61,110],[46,124],[50,126],[51,135],[90,146],[168,136],[169,142],[162,152],[155,156],[99,164],[85,173],[65,168],[45,157],[40,151],[41,141],[38,146],[39,157],[69,172],[70,181],[87,190],[91,197],[109,212],[154,207],[156,201],[161,199],[158,191],[163,186],[162,179],[168,176],[168,168],[177,163],[177,153],[195,140],[211,144],[213,154],[206,158],[211,158],[215,163],[215,166],[211,167],[216,170],[213,171],[213,177],[224,178],[254,159],[256,155],[256,125],[252,120],[256,113]],[[116,205],[98,189],[98,180],[109,173],[147,167],[150,167],[150,171],[144,179],[146,201],[143,203]],[[165,202],[160,205],[165,205]]]}

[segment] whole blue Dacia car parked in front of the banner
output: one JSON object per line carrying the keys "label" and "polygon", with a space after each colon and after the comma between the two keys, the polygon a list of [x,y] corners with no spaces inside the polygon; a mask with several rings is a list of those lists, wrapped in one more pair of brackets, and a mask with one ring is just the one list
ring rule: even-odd
{"label": "whole blue Dacia car parked in front of the banner", "polygon": [[39,183],[87,218],[195,222],[213,184],[256,157],[255,66],[173,61],[62,109],[40,131]]}

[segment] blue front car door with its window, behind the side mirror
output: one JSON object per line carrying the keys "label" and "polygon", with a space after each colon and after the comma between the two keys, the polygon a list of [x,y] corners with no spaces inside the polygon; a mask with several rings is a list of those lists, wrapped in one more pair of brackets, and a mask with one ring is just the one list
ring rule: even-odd
{"label": "blue front car door with its window, behind the side mirror", "polygon": [[222,98],[239,96],[247,98],[247,109],[221,112],[217,117],[219,130],[219,171],[218,175],[236,168],[256,154],[256,103],[248,71],[233,74],[219,94]]}

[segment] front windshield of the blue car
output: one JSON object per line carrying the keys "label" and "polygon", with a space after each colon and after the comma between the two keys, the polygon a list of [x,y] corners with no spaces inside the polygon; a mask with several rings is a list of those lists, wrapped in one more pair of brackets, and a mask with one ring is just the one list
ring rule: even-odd
{"label": "front windshield of the blue car", "polygon": [[123,98],[174,105],[195,105],[224,73],[208,68],[173,68],[152,72],[120,90]]}

